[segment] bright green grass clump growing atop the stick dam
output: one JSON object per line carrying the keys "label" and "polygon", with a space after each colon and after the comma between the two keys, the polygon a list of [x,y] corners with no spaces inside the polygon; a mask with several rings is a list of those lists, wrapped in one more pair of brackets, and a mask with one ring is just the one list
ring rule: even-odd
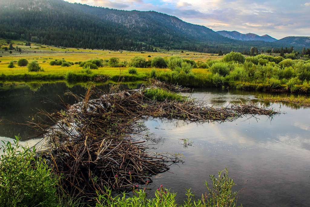
{"label": "bright green grass clump growing atop the stick dam", "polygon": [[188,98],[162,88],[149,88],[144,91],[144,96],[154,101],[186,101]]}

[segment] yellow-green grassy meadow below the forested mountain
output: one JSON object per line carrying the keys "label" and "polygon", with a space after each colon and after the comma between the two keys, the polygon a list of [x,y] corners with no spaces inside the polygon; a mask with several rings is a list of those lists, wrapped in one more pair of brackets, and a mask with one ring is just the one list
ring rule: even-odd
{"label": "yellow-green grassy meadow below the forested mountain", "polygon": [[[142,56],[146,60],[156,56],[169,58],[170,56],[180,56],[182,58],[192,59],[195,61],[206,60],[219,60],[221,57],[207,53],[196,52],[181,52],[181,51],[162,51],[162,52],[130,52],[130,51],[109,51],[109,50],[87,50],[78,48],[60,48],[51,47],[46,45],[39,45],[32,43],[31,46],[25,46],[25,42],[13,41],[13,47],[22,49],[22,52],[9,50],[0,50],[0,79],[1,80],[56,80],[64,79],[64,75],[68,72],[82,75],[82,67],[78,65],[72,65],[71,67],[51,66],[49,62],[55,59],[64,58],[66,61],[78,62],[86,61],[93,58],[110,59],[111,57],[117,57],[120,61],[130,61],[135,56]],[[4,39],[0,39],[1,47],[9,47]],[[3,52],[3,53],[2,53]],[[151,57],[148,57],[151,56]],[[15,68],[8,68],[8,64],[11,61],[18,61],[21,58],[30,61],[38,61],[38,63],[44,69],[44,72],[28,72],[27,67],[20,67],[17,63],[14,63]],[[128,73],[128,68],[115,68],[115,67],[102,67],[98,70],[92,70],[92,75],[107,75],[112,77],[113,80],[119,79],[119,77],[126,77],[126,80],[143,80],[147,78],[151,72],[151,68],[138,68],[138,74],[131,75]],[[156,69],[157,72],[165,72],[169,69]],[[194,69],[195,74],[209,73],[205,69]]]}

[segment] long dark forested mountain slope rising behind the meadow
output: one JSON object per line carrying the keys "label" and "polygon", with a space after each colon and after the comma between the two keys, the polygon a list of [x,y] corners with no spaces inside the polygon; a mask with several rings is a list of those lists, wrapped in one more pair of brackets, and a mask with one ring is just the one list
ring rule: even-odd
{"label": "long dark forested mountain slope rising behind the meadow", "polygon": [[[124,11],[62,0],[0,0],[0,37],[63,47],[224,53],[284,42],[240,41],[155,11]],[[296,49],[302,49],[300,46]],[[310,46],[309,46],[310,47]]]}

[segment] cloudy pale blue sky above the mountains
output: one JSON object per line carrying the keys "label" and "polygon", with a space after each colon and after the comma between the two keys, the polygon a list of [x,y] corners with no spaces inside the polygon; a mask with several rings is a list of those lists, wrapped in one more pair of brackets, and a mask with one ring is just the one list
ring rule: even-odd
{"label": "cloudy pale blue sky above the mountains", "polygon": [[310,36],[310,0],[66,0],[123,10],[158,11],[214,31]]}

